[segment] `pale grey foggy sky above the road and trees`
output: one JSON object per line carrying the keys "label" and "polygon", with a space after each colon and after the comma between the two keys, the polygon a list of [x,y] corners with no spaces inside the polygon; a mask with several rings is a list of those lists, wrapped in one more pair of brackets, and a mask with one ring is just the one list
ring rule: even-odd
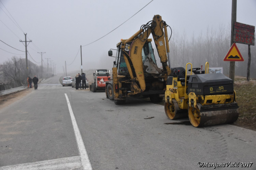
{"label": "pale grey foggy sky above the road and trees", "polygon": [[[54,63],[57,63],[57,73],[63,72],[62,66],[65,65],[65,61],[67,64],[73,62],[80,45],[89,44],[106,35],[150,2],[150,0],[1,1],[22,30],[27,33],[28,39],[33,40],[33,43],[28,45],[28,51],[34,60],[41,62],[41,55],[37,52],[46,52],[43,55],[44,63],[47,64],[47,60],[44,58],[51,58]],[[9,15],[2,3],[0,3],[0,7]],[[25,46],[19,42],[20,39],[25,40],[23,32],[1,8],[0,20],[19,38],[0,21],[0,39],[14,48],[25,51]],[[108,50],[115,49],[121,39],[130,38],[142,24],[152,20],[155,14],[161,15],[174,31],[181,34],[185,31],[187,38],[190,38],[193,33],[197,36],[208,26],[218,28],[220,24],[230,24],[231,0],[154,0],[106,37],[89,46],[82,47],[83,69],[111,69],[114,58],[108,57]],[[237,0],[237,22],[255,26],[255,16],[255,0]],[[168,31],[170,33],[170,30]],[[15,54],[25,54],[1,41],[0,48]],[[14,56],[2,49],[0,49],[0,64]],[[25,55],[15,56],[25,58]],[[28,59],[35,63],[29,56]],[[43,64],[43,66],[46,65]],[[67,71],[79,70],[80,66],[79,51],[74,63],[67,65]]]}

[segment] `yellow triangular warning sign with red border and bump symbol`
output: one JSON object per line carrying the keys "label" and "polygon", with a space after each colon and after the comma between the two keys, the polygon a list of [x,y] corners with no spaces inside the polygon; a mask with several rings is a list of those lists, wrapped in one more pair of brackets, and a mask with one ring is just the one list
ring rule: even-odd
{"label": "yellow triangular warning sign with red border and bump symbol", "polygon": [[228,61],[228,62],[243,62],[244,58],[241,55],[241,53],[239,52],[236,43],[233,43],[233,45],[231,46],[231,48],[228,51],[228,54],[226,55],[226,57],[224,58],[223,61]]}

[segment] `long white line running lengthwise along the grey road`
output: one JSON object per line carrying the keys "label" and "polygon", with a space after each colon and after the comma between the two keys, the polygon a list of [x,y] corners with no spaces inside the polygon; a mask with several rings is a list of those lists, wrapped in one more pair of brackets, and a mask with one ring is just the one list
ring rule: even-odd
{"label": "long white line running lengthwise along the grey road", "polygon": [[80,131],[78,129],[78,126],[77,126],[77,123],[76,123],[76,118],[74,116],[71,105],[69,103],[68,95],[65,94],[65,96],[66,96],[67,103],[68,103],[68,109],[69,109],[71,121],[72,121],[72,124],[73,124],[75,136],[76,136],[76,142],[77,142],[77,147],[78,147],[79,155],[80,155],[80,158],[81,158],[82,166],[86,170],[87,169],[92,169],[92,165],[90,163],[89,157],[88,157],[87,152],[85,150],[85,146],[84,146],[84,142],[83,142],[81,133],[80,133]]}

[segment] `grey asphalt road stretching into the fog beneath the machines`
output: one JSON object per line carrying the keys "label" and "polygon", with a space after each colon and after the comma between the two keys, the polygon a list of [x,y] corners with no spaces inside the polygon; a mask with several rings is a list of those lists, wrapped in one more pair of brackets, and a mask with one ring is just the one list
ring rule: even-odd
{"label": "grey asphalt road stretching into the fog beneath the machines", "polygon": [[194,128],[188,118],[168,120],[161,105],[139,99],[115,105],[105,92],[62,87],[58,76],[1,108],[0,117],[0,169],[86,169],[83,146],[93,169],[213,169],[198,162],[256,169],[255,131]]}

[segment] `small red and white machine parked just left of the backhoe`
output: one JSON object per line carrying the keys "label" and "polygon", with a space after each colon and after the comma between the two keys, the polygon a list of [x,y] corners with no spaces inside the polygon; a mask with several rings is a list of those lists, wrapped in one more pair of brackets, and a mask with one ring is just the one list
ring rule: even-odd
{"label": "small red and white machine parked just left of the backhoe", "polygon": [[97,90],[106,89],[106,81],[110,80],[110,71],[105,69],[96,70],[93,73],[94,83],[90,85],[90,91],[96,92]]}

